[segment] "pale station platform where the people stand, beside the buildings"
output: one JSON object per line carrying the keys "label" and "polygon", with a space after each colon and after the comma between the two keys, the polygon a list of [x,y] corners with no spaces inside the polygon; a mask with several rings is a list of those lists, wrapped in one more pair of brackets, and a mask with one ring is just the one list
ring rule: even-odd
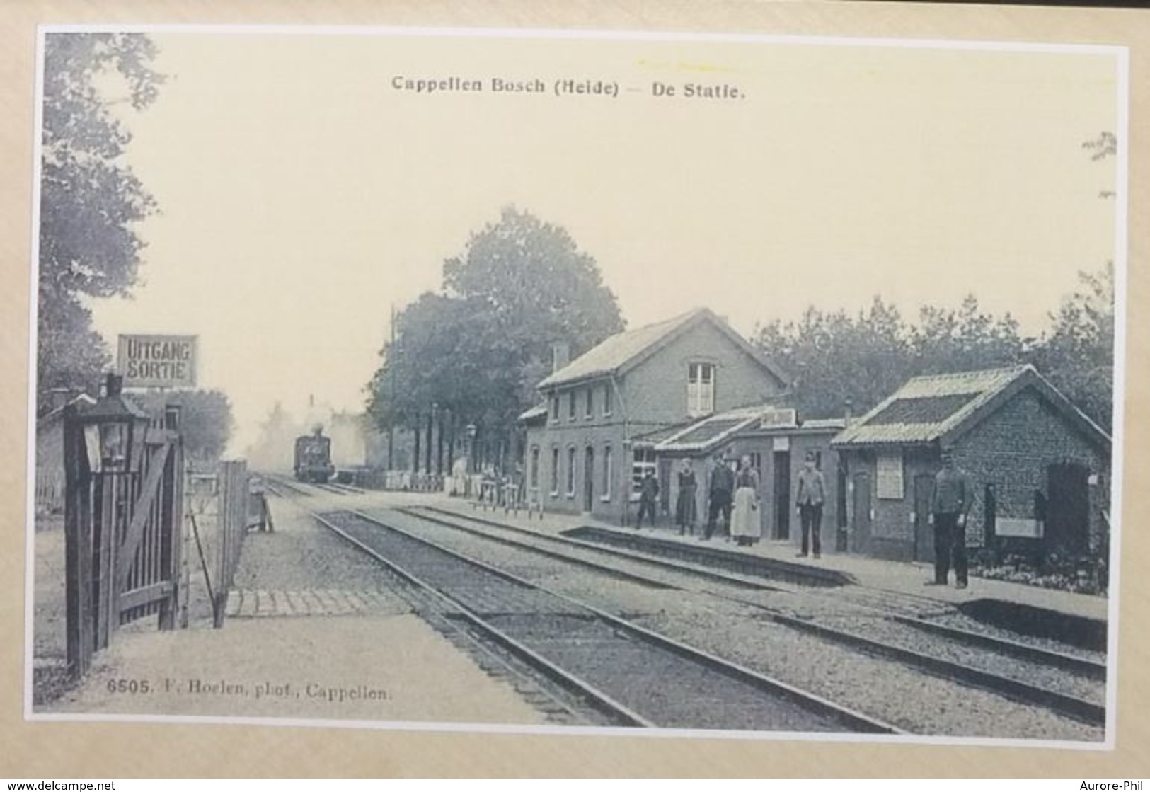
{"label": "pale station platform where the people stand, beside the buildings", "polygon": [[[431,502],[428,500],[428,502]],[[518,528],[537,530],[543,533],[558,535],[581,526],[593,526],[623,535],[658,537],[661,540],[710,545],[713,548],[731,553],[750,553],[791,564],[819,567],[844,572],[858,585],[876,591],[890,591],[899,594],[911,594],[935,599],[950,605],[963,605],[974,600],[997,600],[1040,610],[1048,610],[1066,616],[1105,622],[1109,600],[1105,597],[1080,594],[1053,589],[1042,589],[1021,583],[994,580],[971,576],[966,589],[950,586],[928,586],[927,580],[934,576],[934,567],[922,562],[887,561],[845,553],[823,553],[821,559],[796,558],[796,547],[790,541],[761,540],[754,545],[739,547],[718,535],[710,541],[700,541],[698,529],[696,535],[680,536],[678,528],[667,524],[656,528],[644,526],[642,530],[623,528],[603,522],[588,515],[538,513],[528,515],[526,512],[505,512],[503,508],[484,508],[459,498],[440,497],[435,499],[437,508],[457,512],[463,516],[480,516],[498,520]],[[668,521],[669,522],[669,521]],[[953,579],[953,574],[951,574]]]}

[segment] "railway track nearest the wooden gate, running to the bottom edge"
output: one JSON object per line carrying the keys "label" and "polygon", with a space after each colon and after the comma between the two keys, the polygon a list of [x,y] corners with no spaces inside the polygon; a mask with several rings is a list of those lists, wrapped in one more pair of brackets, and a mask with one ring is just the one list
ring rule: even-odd
{"label": "railway track nearest the wooden gate, running to the bottom edge", "polygon": [[899,732],[377,518],[313,516],[616,724]]}

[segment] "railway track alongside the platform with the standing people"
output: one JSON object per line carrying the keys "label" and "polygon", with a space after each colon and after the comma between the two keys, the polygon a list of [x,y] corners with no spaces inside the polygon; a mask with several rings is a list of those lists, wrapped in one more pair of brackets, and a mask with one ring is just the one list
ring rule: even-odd
{"label": "railway track alongside the platform with the standing people", "polygon": [[[619,561],[637,561],[677,574],[698,575],[708,582],[718,579],[735,585],[746,583],[727,574],[706,574],[705,570],[690,564],[661,558],[639,556],[636,553],[621,552],[615,547],[590,545],[567,537],[540,535],[486,518],[434,508],[398,510],[437,525],[516,546],[528,552],[545,552],[553,558],[570,559],[572,552],[598,549]],[[448,520],[447,515],[452,518]],[[483,525],[484,530],[462,524],[467,522]],[[514,538],[491,535],[490,529],[501,530]],[[543,551],[538,547],[539,543],[566,545],[568,552]],[[665,577],[654,579],[666,584]],[[769,589],[780,591],[777,587]],[[990,690],[1022,703],[1045,707],[1083,723],[1099,726],[1105,723],[1105,664],[1020,641],[948,628],[906,613],[908,608],[936,610],[940,605],[937,600],[900,594],[894,607],[883,608],[875,603],[875,597],[885,592],[859,594],[854,591],[835,590],[830,593],[820,589],[802,592],[806,602],[812,598],[823,602],[835,602],[837,599],[836,605],[842,605],[845,600],[853,613],[844,615],[841,609],[835,608],[828,613],[826,607],[813,608],[813,613],[803,613],[811,610],[810,606],[799,603],[798,607],[780,607],[731,591],[708,589],[707,593],[760,610],[765,617],[777,624],[825,640],[895,660],[942,678]],[[1009,667],[1009,672],[1002,670],[1004,666]]]}

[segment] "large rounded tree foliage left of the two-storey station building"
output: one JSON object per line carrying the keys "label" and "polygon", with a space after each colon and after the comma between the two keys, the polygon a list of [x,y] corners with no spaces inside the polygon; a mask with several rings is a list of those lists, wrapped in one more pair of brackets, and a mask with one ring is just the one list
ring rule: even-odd
{"label": "large rounded tree foliage left of the two-storey station building", "polygon": [[622,330],[595,260],[564,229],[514,208],[444,263],[443,287],[397,315],[397,341],[368,385],[381,428],[419,429],[435,410],[448,431],[505,433],[538,398],[554,343],[578,353]]}

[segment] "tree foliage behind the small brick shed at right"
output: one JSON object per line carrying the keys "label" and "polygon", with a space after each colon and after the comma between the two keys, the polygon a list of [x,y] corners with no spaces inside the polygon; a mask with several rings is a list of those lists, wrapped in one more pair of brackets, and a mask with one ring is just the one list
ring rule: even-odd
{"label": "tree foliage behind the small brick shed at right", "polygon": [[805,417],[841,415],[850,399],[868,410],[911,377],[1033,363],[1105,429],[1113,401],[1113,268],[1082,272],[1051,328],[1023,337],[1010,314],[984,313],[974,295],[957,308],[925,306],[918,323],[875,298],[867,310],[807,308],[798,322],[761,325],[754,343],[795,372],[793,406]]}

